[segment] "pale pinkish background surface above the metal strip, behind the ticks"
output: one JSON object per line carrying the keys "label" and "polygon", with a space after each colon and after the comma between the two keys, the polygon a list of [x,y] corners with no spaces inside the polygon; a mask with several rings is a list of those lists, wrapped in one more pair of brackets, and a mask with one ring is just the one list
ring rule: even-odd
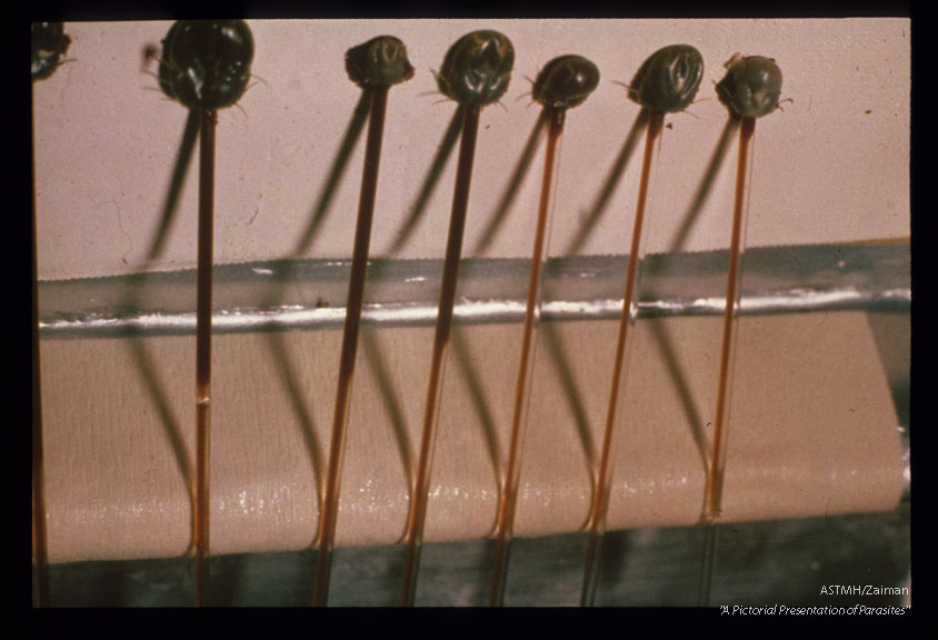
{"label": "pale pinkish background surface above the metal strip, behind the ticks", "polygon": [[[379,34],[400,37],[416,77],[391,91],[373,251],[388,251],[408,217],[452,116],[432,70],[463,33],[496,28],[517,52],[502,107],[482,113],[467,229],[471,252],[537,118],[530,82],[551,58],[579,53],[600,86],[567,119],[555,231],[562,251],[591,208],[638,113],[626,89],[659,47],[687,42],[706,63],[688,114],[668,118],[649,211],[648,249],[670,247],[717,143],[726,111],[714,83],[735,52],[774,57],[792,102],[759,122],[750,246],[845,242],[909,236],[910,21],[849,20],[443,20],[251,21],[256,81],[220,114],[216,260],[278,258],[309,222],[359,97],[345,51]],[[34,89],[39,268],[43,279],[133,271],[147,251],[169,182],[184,110],[141,70],[141,52],[168,22],[71,23],[70,61]],[[309,256],[348,257],[363,143]],[[638,151],[640,152],[639,144]],[[729,243],[730,157],[688,238],[688,250]],[[535,161],[536,163],[538,160]],[[441,257],[450,161],[400,257]],[[585,253],[622,253],[635,211],[633,157]],[[154,266],[194,266],[196,163],[179,220]],[[528,256],[538,186],[532,170],[488,254]]]}

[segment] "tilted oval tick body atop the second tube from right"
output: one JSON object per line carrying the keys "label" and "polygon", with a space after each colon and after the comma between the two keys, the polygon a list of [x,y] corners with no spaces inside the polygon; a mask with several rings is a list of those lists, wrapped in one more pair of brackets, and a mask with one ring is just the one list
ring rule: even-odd
{"label": "tilted oval tick body atop the second tube from right", "polygon": [[629,84],[629,98],[652,113],[683,111],[704,78],[704,58],[690,44],[659,49],[639,67]]}

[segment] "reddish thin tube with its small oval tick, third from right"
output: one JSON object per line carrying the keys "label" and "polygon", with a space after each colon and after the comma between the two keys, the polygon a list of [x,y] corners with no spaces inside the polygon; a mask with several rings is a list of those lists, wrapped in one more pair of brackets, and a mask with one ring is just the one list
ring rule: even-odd
{"label": "reddish thin tube with its small oval tick, third from right", "polygon": [[558,144],[563,132],[567,109],[582,103],[599,84],[596,64],[579,56],[563,56],[547,63],[535,82],[533,98],[543,104],[548,123],[547,150],[543,159],[540,203],[538,207],[535,246],[531,256],[531,276],[528,284],[525,328],[521,334],[521,361],[515,389],[515,412],[508,447],[508,468],[499,491],[498,520],[496,521],[496,557],[489,606],[505,603],[508,578],[508,558],[515,528],[518,482],[521,474],[521,449],[528,422],[531,378],[535,368],[535,340],[540,323],[541,284],[543,266],[548,258],[551,194],[556,172]]}

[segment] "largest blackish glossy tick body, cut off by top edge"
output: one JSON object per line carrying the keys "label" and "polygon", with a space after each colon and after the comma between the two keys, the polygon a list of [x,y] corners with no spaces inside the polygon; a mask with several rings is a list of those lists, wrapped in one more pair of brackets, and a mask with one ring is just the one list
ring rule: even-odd
{"label": "largest blackish glossy tick body, cut off by top edge", "polygon": [[248,87],[253,56],[242,20],[180,20],[163,39],[160,88],[189,109],[230,107]]}

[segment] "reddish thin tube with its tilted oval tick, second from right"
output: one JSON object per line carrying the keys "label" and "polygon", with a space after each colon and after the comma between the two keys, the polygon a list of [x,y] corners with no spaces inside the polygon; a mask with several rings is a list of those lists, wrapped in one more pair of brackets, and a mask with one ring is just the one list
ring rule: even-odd
{"label": "reddish thin tube with its tilted oval tick, second from right", "polygon": [[619,400],[626,397],[629,353],[631,351],[635,322],[638,318],[638,293],[640,269],[645,254],[642,227],[651,174],[651,160],[656,142],[660,139],[665,114],[682,111],[697,94],[704,76],[704,59],[700,52],[688,44],[672,44],[656,51],[639,68],[629,84],[629,98],[649,112],[645,158],[638,189],[635,223],[632,228],[629,262],[626,273],[626,291],[622,300],[622,318],[612,369],[612,384],[606,413],[606,430],[600,449],[599,468],[596,476],[592,507],[587,528],[586,570],[580,603],[592,606],[599,577],[599,550],[606,534],[606,516],[609,509],[609,492],[612,483],[612,449],[617,424],[622,420]]}

